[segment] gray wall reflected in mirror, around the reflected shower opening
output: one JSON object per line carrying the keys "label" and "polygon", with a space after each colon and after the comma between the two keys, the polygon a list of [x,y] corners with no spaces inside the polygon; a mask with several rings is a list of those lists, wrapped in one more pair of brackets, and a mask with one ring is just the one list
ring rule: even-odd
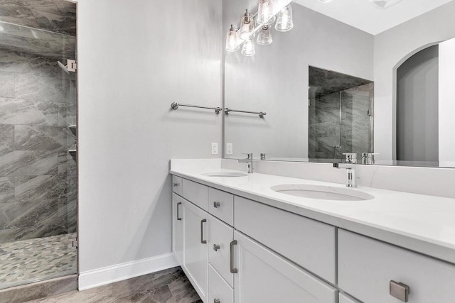
{"label": "gray wall reflected in mirror, around the reflected shower opening", "polygon": [[[238,25],[245,8],[257,1],[223,1],[223,29]],[[273,31],[272,45],[256,45],[256,55],[225,57],[225,106],[266,111],[267,116],[230,114],[225,142],[241,153],[273,158],[308,158],[309,66],[373,79],[373,35],[298,4],[292,4],[294,28]],[[225,33],[223,34],[225,37]],[[347,43],[349,41],[349,43]]]}

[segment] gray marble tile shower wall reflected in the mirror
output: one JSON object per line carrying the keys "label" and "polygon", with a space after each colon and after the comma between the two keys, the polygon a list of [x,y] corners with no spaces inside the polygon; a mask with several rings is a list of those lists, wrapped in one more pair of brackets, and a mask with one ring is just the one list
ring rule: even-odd
{"label": "gray marble tile shower wall reflected in the mirror", "polygon": [[369,116],[373,92],[370,83],[310,101],[309,158],[333,159],[335,145],[341,145],[343,153],[373,152],[373,116]]}

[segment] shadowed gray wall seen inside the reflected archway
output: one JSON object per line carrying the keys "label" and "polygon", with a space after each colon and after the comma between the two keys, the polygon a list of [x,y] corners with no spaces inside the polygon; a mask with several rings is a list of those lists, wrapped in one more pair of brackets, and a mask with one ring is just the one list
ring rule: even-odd
{"label": "shadowed gray wall seen inside the reflected archway", "polygon": [[397,160],[439,160],[439,46],[397,69]]}

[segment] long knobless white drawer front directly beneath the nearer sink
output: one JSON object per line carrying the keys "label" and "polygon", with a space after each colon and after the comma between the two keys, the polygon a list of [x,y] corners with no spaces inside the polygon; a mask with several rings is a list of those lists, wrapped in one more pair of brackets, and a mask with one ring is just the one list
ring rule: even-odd
{"label": "long knobless white drawer front directly beneath the nearer sink", "polygon": [[236,229],[335,284],[335,227],[242,197],[234,201]]}

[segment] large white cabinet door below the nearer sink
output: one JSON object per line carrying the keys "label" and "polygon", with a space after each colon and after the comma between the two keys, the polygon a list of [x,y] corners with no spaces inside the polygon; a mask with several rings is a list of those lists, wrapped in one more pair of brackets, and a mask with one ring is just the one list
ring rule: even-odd
{"label": "large white cabinet door below the nearer sink", "polygon": [[235,231],[235,303],[331,303],[337,290]]}

